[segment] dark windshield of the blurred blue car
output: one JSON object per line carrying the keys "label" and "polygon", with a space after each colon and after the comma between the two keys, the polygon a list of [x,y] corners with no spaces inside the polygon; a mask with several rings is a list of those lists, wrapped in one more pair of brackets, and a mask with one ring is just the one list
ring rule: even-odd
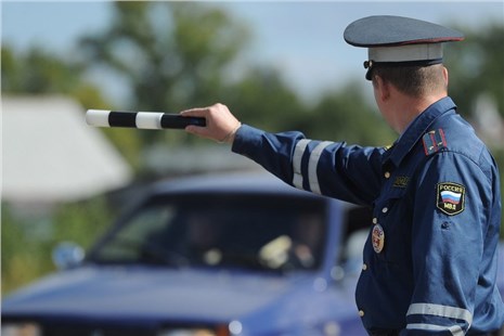
{"label": "dark windshield of the blurred blue car", "polygon": [[314,270],[324,248],[324,203],[254,194],[161,196],[99,244],[99,263]]}

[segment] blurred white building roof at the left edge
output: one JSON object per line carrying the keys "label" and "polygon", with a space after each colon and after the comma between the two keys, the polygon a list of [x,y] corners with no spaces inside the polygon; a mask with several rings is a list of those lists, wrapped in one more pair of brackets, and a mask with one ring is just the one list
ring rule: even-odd
{"label": "blurred white building roof at the left edge", "polygon": [[2,98],[2,199],[72,202],[125,186],[132,171],[64,96]]}

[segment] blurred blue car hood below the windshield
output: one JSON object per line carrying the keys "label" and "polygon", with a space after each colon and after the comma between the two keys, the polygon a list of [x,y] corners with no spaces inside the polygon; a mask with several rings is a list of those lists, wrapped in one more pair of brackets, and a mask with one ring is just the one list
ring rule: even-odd
{"label": "blurred blue car hood below the windshield", "polygon": [[311,276],[81,267],[61,272],[5,298],[2,315],[88,320],[230,321],[310,285]]}

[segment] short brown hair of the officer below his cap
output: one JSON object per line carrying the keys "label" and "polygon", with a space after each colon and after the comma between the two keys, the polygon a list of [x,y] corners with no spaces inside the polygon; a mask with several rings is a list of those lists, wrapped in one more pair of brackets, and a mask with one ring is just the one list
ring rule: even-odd
{"label": "short brown hair of the officer below his cap", "polygon": [[427,66],[390,66],[373,67],[372,79],[375,76],[390,82],[400,92],[414,98],[421,98],[441,90],[447,90],[442,64]]}

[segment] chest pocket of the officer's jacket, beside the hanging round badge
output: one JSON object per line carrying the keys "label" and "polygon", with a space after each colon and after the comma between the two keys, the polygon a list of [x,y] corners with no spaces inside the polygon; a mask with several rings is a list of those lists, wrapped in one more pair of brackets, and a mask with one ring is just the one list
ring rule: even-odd
{"label": "chest pocket of the officer's jacket, beside the hanging round badge", "polygon": [[[375,250],[378,261],[393,267],[405,267],[409,263],[411,222],[412,207],[408,188],[390,185],[388,191],[375,202],[373,210],[373,227],[379,225],[378,230],[383,230],[384,235],[382,249]],[[376,232],[374,233],[376,235]],[[373,244],[379,244],[379,242],[376,241]]]}

